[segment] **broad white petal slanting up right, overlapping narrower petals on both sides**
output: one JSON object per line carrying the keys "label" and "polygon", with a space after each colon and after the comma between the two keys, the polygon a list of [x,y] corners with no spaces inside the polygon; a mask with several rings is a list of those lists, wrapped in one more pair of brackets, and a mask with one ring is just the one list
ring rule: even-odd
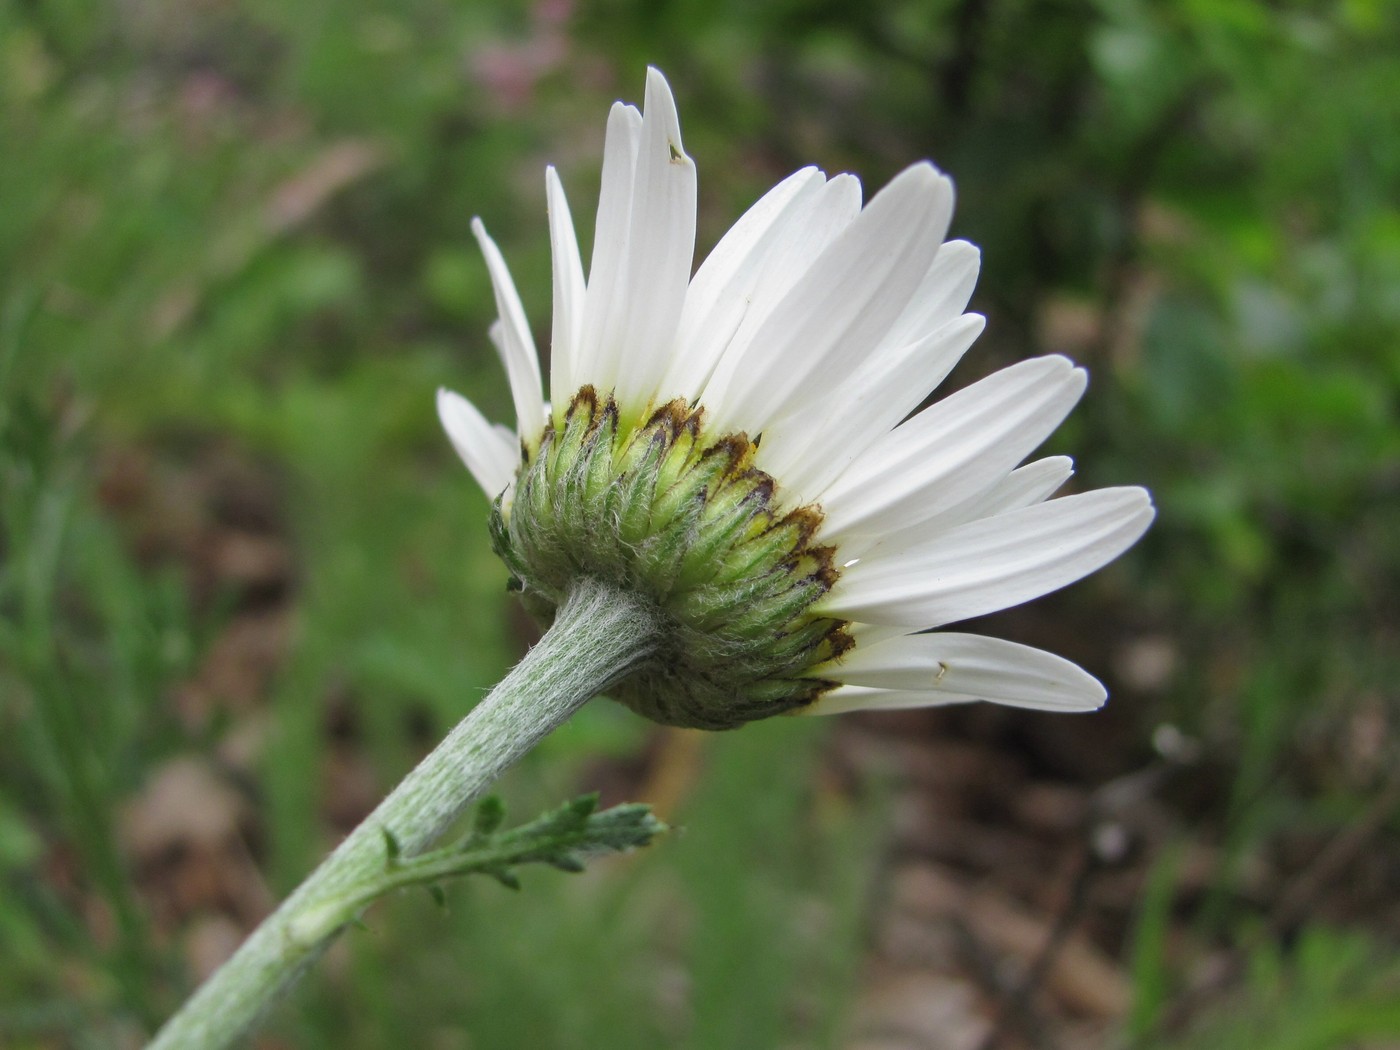
{"label": "broad white petal slanting up right, overlapping narrower petals on both sides", "polygon": [[858,367],[909,305],[951,213],[952,183],[928,164],[881,190],[753,333],[756,353],[706,389],[721,428],[757,434],[809,384]]}

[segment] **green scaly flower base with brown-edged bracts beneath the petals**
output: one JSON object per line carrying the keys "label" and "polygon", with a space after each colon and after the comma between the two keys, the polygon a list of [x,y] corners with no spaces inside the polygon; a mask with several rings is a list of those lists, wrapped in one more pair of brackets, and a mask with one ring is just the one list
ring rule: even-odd
{"label": "green scaly flower base with brown-edged bracts beneath the petals", "polygon": [[784,510],[755,448],[708,440],[682,400],[629,426],[585,386],[496,503],[496,552],[542,624],[581,578],[654,610],[655,654],[610,690],[654,721],[728,729],[799,708],[834,685],[806,672],[853,644],[812,612],[839,575],[813,542],[822,514]]}

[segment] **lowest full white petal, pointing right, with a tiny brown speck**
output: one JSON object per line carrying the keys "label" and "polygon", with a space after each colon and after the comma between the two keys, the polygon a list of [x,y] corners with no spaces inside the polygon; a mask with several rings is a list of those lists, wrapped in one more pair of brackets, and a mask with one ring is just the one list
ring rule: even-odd
{"label": "lowest full white petal, pointing right, with a tiny brown speck", "polygon": [[1107,697],[1098,679],[1063,657],[980,634],[934,631],[858,644],[813,673],[931,704],[991,700],[1046,711],[1093,711]]}

